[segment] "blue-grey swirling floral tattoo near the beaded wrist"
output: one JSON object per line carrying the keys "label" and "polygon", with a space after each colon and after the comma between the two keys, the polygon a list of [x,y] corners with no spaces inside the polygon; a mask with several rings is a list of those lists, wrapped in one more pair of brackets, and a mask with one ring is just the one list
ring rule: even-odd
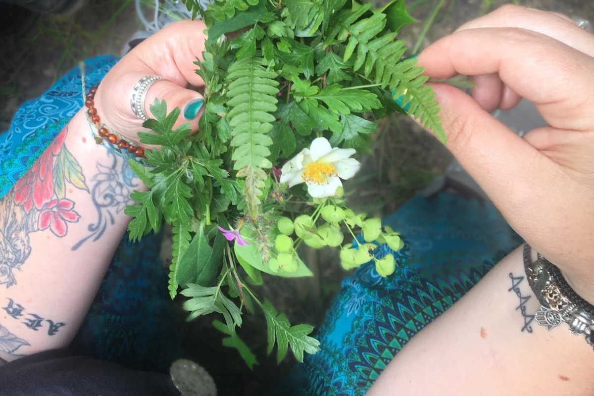
{"label": "blue-grey swirling floral tattoo near the beaded wrist", "polygon": [[140,185],[140,179],[136,178],[126,161],[110,151],[108,156],[111,159],[109,166],[97,164],[98,172],[91,179],[96,182],[91,189],[91,198],[97,210],[97,222],[89,224],[90,235],[78,241],[72,247],[73,251],[91,238],[93,242],[99,239],[108,225],[115,222],[114,215],[121,213],[132,202],[130,193]]}

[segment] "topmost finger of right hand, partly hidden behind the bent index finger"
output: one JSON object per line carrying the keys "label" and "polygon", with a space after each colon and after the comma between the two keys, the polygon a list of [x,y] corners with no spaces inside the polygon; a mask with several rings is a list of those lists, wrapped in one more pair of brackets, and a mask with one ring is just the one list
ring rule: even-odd
{"label": "topmost finger of right hand, partly hidden behind the bent index finger", "polygon": [[584,31],[571,18],[562,14],[519,5],[504,5],[484,17],[462,25],[456,31],[486,27],[519,27],[532,30],[594,56],[594,35]]}

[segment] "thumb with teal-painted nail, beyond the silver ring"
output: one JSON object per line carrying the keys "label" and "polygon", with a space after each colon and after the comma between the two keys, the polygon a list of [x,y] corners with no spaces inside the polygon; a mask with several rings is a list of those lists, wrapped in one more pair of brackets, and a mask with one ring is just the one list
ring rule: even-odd
{"label": "thumb with teal-painted nail, beyond the silver ring", "polygon": [[181,88],[171,81],[159,80],[147,91],[146,100],[144,101],[144,112],[149,117],[154,117],[150,111],[150,106],[154,104],[156,99],[165,100],[168,112],[171,112],[175,107],[179,107],[181,112],[174,128],[182,123],[189,122],[192,132],[198,130],[198,120],[204,112],[204,97],[201,94],[187,88]]}

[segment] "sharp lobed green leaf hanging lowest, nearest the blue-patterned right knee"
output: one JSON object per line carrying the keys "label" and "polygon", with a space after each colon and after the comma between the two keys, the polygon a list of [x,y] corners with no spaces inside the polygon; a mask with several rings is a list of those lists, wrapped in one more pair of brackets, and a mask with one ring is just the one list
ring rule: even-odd
{"label": "sharp lobed green leaf hanging lowest, nearest the blue-patterned right knee", "polygon": [[314,330],[313,326],[291,326],[285,314],[278,315],[276,308],[268,300],[264,302],[263,310],[268,330],[268,354],[276,341],[277,362],[280,363],[285,358],[289,346],[299,362],[303,362],[304,351],[313,354],[320,350],[320,341],[308,336]]}

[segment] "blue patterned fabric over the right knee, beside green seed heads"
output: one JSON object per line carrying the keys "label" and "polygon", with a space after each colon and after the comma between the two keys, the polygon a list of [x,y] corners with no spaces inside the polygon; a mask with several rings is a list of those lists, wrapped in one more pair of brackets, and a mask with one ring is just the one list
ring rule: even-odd
{"label": "blue patterned fabric over the right knee, beside green seed heads", "polygon": [[271,395],[364,395],[417,332],[460,299],[504,255],[522,243],[490,205],[442,192],[416,197],[384,220],[402,232],[386,278],[373,262],[347,277],[307,355]]}

